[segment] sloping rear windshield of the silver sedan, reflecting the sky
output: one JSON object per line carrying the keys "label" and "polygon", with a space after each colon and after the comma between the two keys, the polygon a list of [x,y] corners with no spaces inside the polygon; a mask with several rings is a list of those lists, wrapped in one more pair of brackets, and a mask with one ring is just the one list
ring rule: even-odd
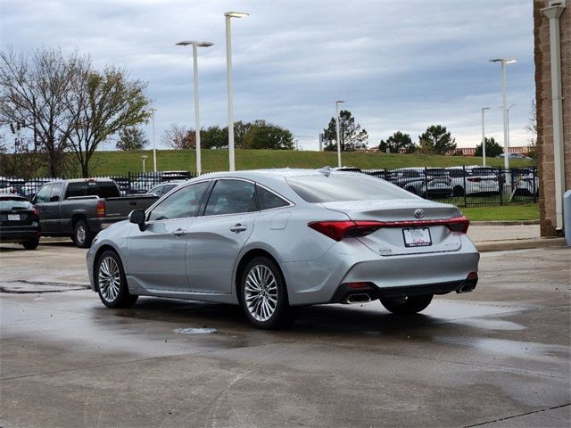
{"label": "sloping rear windshield of the silver sedan, reflecting the sky", "polygon": [[307,202],[377,201],[413,199],[400,187],[364,174],[287,177],[287,184]]}

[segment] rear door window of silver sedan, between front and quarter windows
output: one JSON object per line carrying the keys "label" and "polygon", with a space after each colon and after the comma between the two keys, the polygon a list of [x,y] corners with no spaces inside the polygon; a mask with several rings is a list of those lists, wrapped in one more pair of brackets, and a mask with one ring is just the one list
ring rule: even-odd
{"label": "rear door window of silver sedan, between front and quarter windows", "polygon": [[257,211],[255,186],[242,180],[219,180],[212,189],[205,216]]}

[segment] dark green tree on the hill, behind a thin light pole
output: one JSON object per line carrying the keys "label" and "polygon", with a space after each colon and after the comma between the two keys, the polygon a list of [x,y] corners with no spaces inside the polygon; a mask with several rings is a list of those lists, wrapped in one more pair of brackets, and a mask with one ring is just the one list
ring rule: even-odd
{"label": "dark green tree on the hill, behind a thin light pole", "polygon": [[[335,118],[329,120],[329,125],[323,130],[327,143],[324,149],[328,151],[337,150],[337,129]],[[368,134],[365,129],[360,128],[359,123],[355,123],[351,111],[342,110],[339,112],[339,144],[342,152],[354,152],[365,149],[368,144]]]}

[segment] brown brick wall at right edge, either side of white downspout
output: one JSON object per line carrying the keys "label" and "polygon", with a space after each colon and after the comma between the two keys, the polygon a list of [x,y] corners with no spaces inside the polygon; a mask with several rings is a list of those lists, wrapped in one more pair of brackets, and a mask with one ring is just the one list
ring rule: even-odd
{"label": "brown brick wall at right edge, either side of white downspout", "polygon": [[[549,0],[534,0],[535,100],[537,106],[537,159],[540,180],[542,236],[556,235],[553,126],[551,109],[550,22],[541,9]],[[561,78],[563,84],[563,141],[565,190],[571,189],[571,0],[559,18]]]}

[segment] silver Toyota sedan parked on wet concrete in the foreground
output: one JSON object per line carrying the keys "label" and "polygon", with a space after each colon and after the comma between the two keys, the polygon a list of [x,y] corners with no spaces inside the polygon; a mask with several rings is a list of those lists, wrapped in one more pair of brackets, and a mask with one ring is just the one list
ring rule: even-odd
{"label": "silver Toyota sedan parked on wet concrete in the foreground", "polygon": [[304,305],[380,300],[414,314],[471,292],[479,254],[457,207],[334,169],[217,173],[96,236],[91,288],[110,308],[161,296],[241,305],[261,328]]}

